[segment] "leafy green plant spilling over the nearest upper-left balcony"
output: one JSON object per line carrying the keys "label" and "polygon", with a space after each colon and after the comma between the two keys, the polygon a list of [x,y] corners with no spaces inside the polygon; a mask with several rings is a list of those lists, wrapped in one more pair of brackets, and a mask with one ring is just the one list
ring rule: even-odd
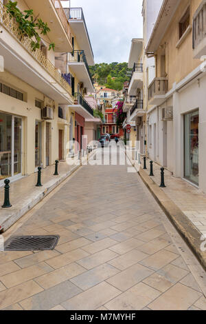
{"label": "leafy green plant spilling over the nearest upper-left balcony", "polygon": [[[10,14],[11,18],[14,18],[23,36],[31,39],[32,50],[35,51],[36,48],[41,47],[41,37],[39,34],[47,35],[47,33],[50,32],[50,29],[47,23],[44,23],[41,18],[38,18],[38,16],[34,17],[33,10],[24,10],[21,12],[16,6],[17,1],[8,1],[5,5],[7,12]],[[48,50],[54,50],[54,48],[55,44],[49,43]]]}

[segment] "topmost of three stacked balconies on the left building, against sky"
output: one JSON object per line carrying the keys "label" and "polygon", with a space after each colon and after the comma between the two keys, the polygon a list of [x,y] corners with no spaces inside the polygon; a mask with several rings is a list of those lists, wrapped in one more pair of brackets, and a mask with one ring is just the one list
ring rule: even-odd
{"label": "topmost of three stacked balconies on the left building, against sky", "polygon": [[65,14],[69,20],[69,24],[73,32],[76,35],[78,45],[84,50],[87,57],[87,62],[89,65],[94,65],[93,50],[82,8],[65,8]]}

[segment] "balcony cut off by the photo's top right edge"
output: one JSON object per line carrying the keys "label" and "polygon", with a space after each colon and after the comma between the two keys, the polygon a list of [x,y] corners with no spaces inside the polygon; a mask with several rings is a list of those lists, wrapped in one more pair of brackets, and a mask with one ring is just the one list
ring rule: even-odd
{"label": "balcony cut off by the photo's top right edge", "polygon": [[193,17],[192,47],[194,59],[206,55],[206,3],[203,1]]}

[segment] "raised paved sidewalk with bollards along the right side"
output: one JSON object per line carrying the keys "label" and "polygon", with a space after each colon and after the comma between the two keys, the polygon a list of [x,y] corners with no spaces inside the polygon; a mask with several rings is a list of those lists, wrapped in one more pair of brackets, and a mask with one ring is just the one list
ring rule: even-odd
{"label": "raised paved sidewalk with bollards along the right side", "polygon": [[183,236],[206,270],[206,194],[183,179],[174,178],[168,170],[165,170],[166,188],[159,188],[161,166],[153,163],[155,176],[149,176],[150,159],[146,161],[147,170],[143,170],[143,158],[141,158],[141,168],[139,169],[138,161],[132,159],[134,152],[127,151],[127,155],[168,219]]}

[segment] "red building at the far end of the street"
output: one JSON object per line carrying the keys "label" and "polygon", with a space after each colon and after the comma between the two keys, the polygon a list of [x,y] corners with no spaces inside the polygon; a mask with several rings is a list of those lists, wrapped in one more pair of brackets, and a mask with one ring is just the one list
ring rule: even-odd
{"label": "red building at the far end of the street", "polygon": [[119,137],[124,137],[124,131],[116,125],[115,110],[113,108],[105,110],[105,121],[106,123],[102,124],[101,135],[108,133],[118,134]]}

